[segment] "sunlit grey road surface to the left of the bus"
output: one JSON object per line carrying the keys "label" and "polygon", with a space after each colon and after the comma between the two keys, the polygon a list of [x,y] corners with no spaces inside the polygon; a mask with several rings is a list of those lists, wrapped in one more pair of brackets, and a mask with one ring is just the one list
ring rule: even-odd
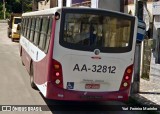
{"label": "sunlit grey road surface to the left of the bus", "polygon": [[40,93],[30,87],[19,43],[7,37],[7,23],[0,23],[0,105],[46,105]]}

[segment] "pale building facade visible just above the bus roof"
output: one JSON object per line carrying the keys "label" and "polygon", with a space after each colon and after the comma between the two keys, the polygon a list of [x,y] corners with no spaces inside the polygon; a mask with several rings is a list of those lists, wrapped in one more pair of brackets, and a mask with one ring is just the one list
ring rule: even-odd
{"label": "pale building facade visible just above the bus roof", "polygon": [[[34,6],[38,6],[38,10],[43,10],[52,7],[76,7],[88,6],[92,8],[105,8],[115,11],[120,11],[121,1],[123,0],[33,0]],[[113,4],[112,4],[113,3]],[[35,10],[35,9],[33,9]]]}

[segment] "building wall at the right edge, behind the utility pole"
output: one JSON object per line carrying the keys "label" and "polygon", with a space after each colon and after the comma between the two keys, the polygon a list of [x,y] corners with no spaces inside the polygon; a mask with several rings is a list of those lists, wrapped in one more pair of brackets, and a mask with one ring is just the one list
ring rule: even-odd
{"label": "building wall at the right edge, behind the utility pole", "polygon": [[[160,0],[137,0],[141,2],[141,19],[146,23],[147,39],[142,48],[142,75],[147,79],[160,80]],[[140,7],[137,7],[140,8]],[[136,14],[134,0],[125,1],[124,12]],[[144,65],[145,64],[145,65]],[[149,77],[150,76],[150,77]]]}

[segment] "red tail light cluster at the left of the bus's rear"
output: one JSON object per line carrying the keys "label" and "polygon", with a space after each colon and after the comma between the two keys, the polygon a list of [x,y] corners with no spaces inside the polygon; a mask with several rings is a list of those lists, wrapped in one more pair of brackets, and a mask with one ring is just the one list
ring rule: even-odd
{"label": "red tail light cluster at the left of the bus's rear", "polygon": [[63,88],[63,74],[61,64],[53,59],[53,74],[52,74],[53,83],[59,87]]}

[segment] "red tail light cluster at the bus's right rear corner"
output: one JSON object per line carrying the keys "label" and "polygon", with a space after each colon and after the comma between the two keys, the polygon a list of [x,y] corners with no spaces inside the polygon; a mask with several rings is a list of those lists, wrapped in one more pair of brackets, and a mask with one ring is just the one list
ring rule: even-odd
{"label": "red tail light cluster at the bus's right rear corner", "polygon": [[126,68],[119,90],[128,89],[131,85],[133,65]]}

